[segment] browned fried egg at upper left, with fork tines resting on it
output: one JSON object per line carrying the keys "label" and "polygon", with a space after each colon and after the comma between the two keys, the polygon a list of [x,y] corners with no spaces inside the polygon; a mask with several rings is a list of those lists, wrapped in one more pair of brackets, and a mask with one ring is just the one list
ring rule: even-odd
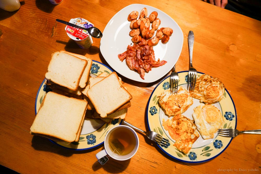
{"label": "browned fried egg at upper left, with fork tines resting on it", "polygon": [[191,94],[182,86],[179,86],[177,94],[171,94],[170,89],[164,90],[159,96],[159,105],[168,117],[174,116],[175,119],[181,117],[193,104]]}

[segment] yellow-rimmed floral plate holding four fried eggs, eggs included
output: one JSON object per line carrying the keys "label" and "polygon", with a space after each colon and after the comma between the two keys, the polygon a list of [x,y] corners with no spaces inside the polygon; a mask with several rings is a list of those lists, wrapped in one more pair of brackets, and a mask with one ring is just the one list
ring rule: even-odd
{"label": "yellow-rimmed floral plate holding four fried eggs, eggs included", "polygon": [[217,129],[236,128],[235,105],[221,80],[198,72],[198,84],[188,92],[188,71],[178,73],[176,96],[170,93],[170,76],[153,90],[146,108],[147,124],[170,140],[168,147],[158,145],[168,156],[187,163],[206,162],[224,152],[232,141],[219,136]]}

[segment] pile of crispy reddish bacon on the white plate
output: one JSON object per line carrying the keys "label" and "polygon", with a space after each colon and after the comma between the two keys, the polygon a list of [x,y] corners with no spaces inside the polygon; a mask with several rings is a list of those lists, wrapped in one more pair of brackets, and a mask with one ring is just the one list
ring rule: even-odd
{"label": "pile of crispy reddish bacon on the white plate", "polygon": [[144,79],[145,72],[149,72],[152,67],[162,66],[167,63],[165,60],[155,60],[153,47],[149,46],[145,39],[141,39],[138,44],[128,45],[127,51],[118,54],[118,58],[121,61],[126,59],[129,69],[136,70],[142,79]]}

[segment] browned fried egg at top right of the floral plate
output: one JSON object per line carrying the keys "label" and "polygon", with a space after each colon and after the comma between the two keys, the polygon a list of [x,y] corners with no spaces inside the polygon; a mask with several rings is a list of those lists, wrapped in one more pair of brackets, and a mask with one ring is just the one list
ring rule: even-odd
{"label": "browned fried egg at top right of the floral plate", "polygon": [[190,91],[193,98],[205,104],[219,102],[225,92],[225,86],[218,78],[203,74],[197,78],[195,89]]}

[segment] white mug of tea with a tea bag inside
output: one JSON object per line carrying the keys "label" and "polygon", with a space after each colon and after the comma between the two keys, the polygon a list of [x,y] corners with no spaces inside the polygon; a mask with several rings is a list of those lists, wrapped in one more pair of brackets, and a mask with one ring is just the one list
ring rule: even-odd
{"label": "white mug of tea with a tea bag inside", "polygon": [[[123,140],[128,134],[130,138]],[[119,135],[119,137],[115,135]],[[130,142],[126,142],[126,141],[130,141]],[[131,143],[131,145],[129,145],[129,143]],[[112,148],[110,148],[110,144],[114,144],[115,146],[118,146],[117,149],[118,151],[121,152],[118,152],[117,150],[113,151]],[[127,160],[135,155],[135,153],[138,151],[138,147],[139,147],[139,138],[135,130],[125,125],[115,126],[107,132],[104,139],[104,150],[98,152],[96,154],[96,158],[98,159],[99,163],[101,163],[102,165],[109,160],[107,156],[120,161]],[[127,152],[124,153],[125,151]],[[122,154],[120,155],[119,153]]]}

